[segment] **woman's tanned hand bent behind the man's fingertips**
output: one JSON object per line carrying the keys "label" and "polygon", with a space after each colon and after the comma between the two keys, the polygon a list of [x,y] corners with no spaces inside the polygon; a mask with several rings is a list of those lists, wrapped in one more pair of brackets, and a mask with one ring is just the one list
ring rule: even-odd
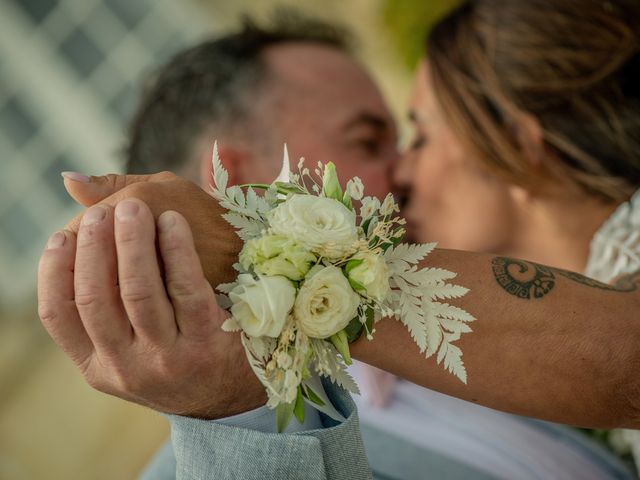
{"label": "woman's tanned hand bent behind the man's fingertips", "polygon": [[[181,213],[189,222],[196,251],[209,283],[215,288],[236,277],[232,265],[238,259],[242,242],[221,217],[225,210],[195,183],[170,172],[84,179],[86,181],[65,178],[65,187],[70,195],[82,205],[102,202],[115,206],[119,201],[133,197],[145,202],[156,219],[166,210]],[[81,217],[78,215],[69,222],[67,230],[77,233]]]}

